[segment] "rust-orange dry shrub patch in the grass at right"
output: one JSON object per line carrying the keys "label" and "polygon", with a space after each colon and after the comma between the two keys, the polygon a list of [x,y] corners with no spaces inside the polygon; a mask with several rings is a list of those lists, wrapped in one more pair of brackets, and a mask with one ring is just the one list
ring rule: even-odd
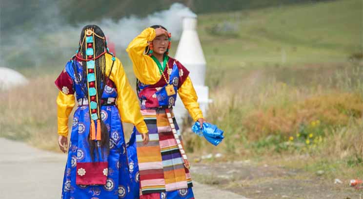
{"label": "rust-orange dry shrub patch in the grass at right", "polygon": [[360,118],[362,110],[363,99],[359,94],[334,92],[287,106],[252,111],[246,116],[243,126],[251,140],[269,134],[288,136],[295,134],[300,125],[315,120],[330,127],[346,125],[351,117]]}

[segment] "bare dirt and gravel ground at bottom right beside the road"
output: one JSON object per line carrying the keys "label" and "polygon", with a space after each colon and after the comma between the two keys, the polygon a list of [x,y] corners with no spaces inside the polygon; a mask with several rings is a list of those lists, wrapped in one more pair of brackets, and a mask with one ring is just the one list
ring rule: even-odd
{"label": "bare dirt and gravel ground at bottom right beside the road", "polygon": [[214,185],[250,199],[362,199],[363,189],[348,181],[334,183],[302,170],[251,161],[193,163],[195,181]]}

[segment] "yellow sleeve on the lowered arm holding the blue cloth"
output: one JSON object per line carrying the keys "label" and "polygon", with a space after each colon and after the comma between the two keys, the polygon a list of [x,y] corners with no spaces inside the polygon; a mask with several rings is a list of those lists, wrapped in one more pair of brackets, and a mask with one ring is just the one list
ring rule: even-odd
{"label": "yellow sleeve on the lowered arm holding the blue cloth", "polygon": [[198,96],[194,90],[192,80],[188,76],[178,90],[179,96],[194,121],[203,118],[202,110],[199,108]]}

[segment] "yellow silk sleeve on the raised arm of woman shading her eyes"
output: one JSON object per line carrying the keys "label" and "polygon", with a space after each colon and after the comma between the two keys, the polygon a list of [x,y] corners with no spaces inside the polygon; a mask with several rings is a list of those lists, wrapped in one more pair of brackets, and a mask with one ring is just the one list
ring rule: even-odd
{"label": "yellow silk sleeve on the raised arm of woman shading her eyes", "polygon": [[154,28],[146,28],[131,41],[126,49],[133,63],[132,68],[136,78],[147,85],[156,84],[161,78],[158,65],[149,55],[144,54],[148,46],[147,42],[154,40],[155,36]]}

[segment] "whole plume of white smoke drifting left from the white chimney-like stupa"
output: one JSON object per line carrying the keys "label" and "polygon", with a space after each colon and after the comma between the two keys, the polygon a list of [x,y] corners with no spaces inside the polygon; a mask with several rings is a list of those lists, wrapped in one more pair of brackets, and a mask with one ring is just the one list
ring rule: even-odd
{"label": "whole plume of white smoke drifting left from the white chimney-like stupa", "polygon": [[[182,33],[182,18],[196,16],[188,7],[181,3],[174,3],[168,10],[155,12],[145,18],[135,16],[121,18],[118,21],[103,19],[101,21],[82,22],[75,26],[66,24],[56,6],[51,6],[44,12],[51,17],[47,23],[35,24],[32,30],[20,30],[9,38],[7,44],[1,46],[1,57],[7,60],[10,68],[36,66],[43,68],[64,64],[78,48],[81,30],[85,25],[96,24],[101,27],[109,42],[115,44],[119,50],[117,54],[124,54],[129,42],[141,31],[151,25],[162,25],[172,34],[173,40],[179,40]],[[57,17],[58,16],[58,17]],[[4,51],[3,49],[7,49]],[[121,51],[120,51],[121,50]],[[21,54],[19,58],[25,61],[14,63],[14,54]],[[24,58],[24,54],[26,58]],[[12,60],[12,61],[9,61]],[[13,62],[13,63],[10,63]],[[26,66],[19,66],[24,65]],[[2,62],[4,63],[4,62]],[[6,64],[6,63],[5,63]]]}

